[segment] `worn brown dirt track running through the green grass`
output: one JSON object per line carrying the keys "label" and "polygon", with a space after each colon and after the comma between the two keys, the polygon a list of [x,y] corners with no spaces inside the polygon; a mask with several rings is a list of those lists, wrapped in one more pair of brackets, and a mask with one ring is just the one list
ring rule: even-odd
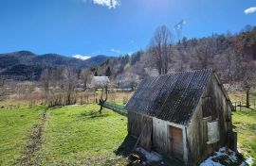
{"label": "worn brown dirt track running through the green grass", "polygon": [[38,157],[36,157],[35,153],[41,148],[42,145],[42,131],[44,125],[46,124],[48,110],[49,108],[46,108],[43,111],[40,122],[33,126],[33,130],[27,138],[28,141],[26,143],[24,152],[18,161],[18,163],[22,166],[38,165]]}

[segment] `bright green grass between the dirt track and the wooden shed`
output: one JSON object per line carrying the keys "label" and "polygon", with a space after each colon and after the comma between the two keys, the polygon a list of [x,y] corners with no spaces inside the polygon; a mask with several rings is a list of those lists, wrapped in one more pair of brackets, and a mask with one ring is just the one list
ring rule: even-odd
{"label": "bright green grass between the dirt track and the wooden shed", "polygon": [[[42,165],[123,165],[115,154],[127,135],[127,119],[96,105],[55,108],[48,112]],[[114,164],[115,163],[115,164]]]}

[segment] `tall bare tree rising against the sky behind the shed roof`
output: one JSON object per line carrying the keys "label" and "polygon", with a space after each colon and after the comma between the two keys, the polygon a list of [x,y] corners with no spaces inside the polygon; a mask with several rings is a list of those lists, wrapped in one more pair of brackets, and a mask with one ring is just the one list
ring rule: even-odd
{"label": "tall bare tree rising against the sky behind the shed roof", "polygon": [[152,56],[153,65],[157,68],[159,75],[168,73],[171,62],[171,31],[166,25],[157,27],[150,43],[149,52]]}

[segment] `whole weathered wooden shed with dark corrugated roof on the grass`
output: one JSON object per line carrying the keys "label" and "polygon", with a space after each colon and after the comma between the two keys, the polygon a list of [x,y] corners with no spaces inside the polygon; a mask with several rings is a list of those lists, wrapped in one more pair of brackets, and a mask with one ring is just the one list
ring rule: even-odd
{"label": "whole weathered wooden shed with dark corrugated roof on the grass", "polygon": [[236,150],[229,96],[212,70],[143,80],[126,105],[128,133],[139,145],[198,165],[215,150]]}

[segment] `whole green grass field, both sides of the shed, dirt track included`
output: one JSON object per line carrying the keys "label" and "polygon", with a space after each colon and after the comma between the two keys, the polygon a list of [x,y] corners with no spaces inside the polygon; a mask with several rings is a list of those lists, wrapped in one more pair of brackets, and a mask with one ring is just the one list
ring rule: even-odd
{"label": "whole green grass field, both sides of the shed, dirt track included", "polygon": [[[232,96],[231,96],[232,97]],[[126,165],[127,119],[99,106],[0,109],[0,165]],[[256,158],[256,111],[232,115],[240,149]]]}

